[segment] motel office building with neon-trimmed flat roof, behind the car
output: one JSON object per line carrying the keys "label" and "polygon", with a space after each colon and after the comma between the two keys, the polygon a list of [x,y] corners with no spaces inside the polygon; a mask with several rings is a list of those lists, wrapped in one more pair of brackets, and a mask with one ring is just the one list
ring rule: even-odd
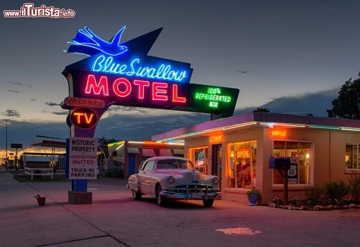
{"label": "motel office building with neon-trimmed flat roof, behind the car", "polygon": [[[221,179],[222,200],[247,203],[255,186],[262,203],[283,199],[283,178],[269,158],[288,157],[288,198],[304,188],[360,172],[360,121],[253,111],[152,136],[159,143],[184,143],[196,169]],[[282,170],[280,170],[282,171]],[[286,170],[285,170],[286,171]]]}

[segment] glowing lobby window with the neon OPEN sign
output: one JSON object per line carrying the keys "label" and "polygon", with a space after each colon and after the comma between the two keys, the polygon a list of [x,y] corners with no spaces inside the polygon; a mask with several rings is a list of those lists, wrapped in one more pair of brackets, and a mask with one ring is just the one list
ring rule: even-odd
{"label": "glowing lobby window with the neon OPEN sign", "polygon": [[256,141],[227,143],[228,188],[256,185]]}

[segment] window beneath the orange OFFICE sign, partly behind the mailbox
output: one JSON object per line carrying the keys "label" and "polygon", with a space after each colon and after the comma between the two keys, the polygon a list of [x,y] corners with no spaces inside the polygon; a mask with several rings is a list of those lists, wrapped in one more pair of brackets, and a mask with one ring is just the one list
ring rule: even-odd
{"label": "window beneath the orange OFFICE sign, partly behind the mailbox", "polygon": [[[309,171],[312,160],[312,143],[274,141],[274,157],[290,158],[290,170],[287,171],[288,184],[309,184]],[[281,174],[273,170],[273,184],[283,184]]]}

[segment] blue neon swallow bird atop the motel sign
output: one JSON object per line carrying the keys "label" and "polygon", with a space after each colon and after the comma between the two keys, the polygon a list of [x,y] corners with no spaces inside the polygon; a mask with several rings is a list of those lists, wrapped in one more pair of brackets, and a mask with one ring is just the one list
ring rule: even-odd
{"label": "blue neon swallow bird atop the motel sign", "polygon": [[120,45],[121,34],[125,30],[126,26],[123,26],[113,36],[109,42],[96,36],[87,26],[83,29],[77,30],[75,38],[67,49],[67,53],[80,53],[87,56],[92,56],[96,53],[103,52],[110,56],[117,56],[127,51],[127,47]]}

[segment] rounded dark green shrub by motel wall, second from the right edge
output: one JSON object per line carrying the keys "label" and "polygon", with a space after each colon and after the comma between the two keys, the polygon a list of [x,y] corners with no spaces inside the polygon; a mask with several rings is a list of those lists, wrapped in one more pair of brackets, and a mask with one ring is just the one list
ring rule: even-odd
{"label": "rounded dark green shrub by motel wall, second from the right edge", "polygon": [[350,187],[344,181],[324,184],[324,199],[326,204],[338,205],[349,193]]}

